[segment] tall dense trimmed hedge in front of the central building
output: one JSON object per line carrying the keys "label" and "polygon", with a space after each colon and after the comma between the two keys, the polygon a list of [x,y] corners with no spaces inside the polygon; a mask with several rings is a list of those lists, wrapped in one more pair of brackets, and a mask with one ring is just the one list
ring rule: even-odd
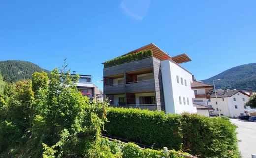
{"label": "tall dense trimmed hedge in front of the central building", "polygon": [[202,158],[240,157],[236,126],[228,118],[112,107],[107,111],[106,134]]}

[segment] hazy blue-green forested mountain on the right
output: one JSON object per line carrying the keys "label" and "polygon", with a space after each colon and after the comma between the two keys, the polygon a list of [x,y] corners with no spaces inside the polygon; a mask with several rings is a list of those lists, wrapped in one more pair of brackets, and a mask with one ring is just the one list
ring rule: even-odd
{"label": "hazy blue-green forested mountain on the right", "polygon": [[230,88],[237,90],[247,90],[251,88],[256,91],[256,63],[245,64],[228,69],[216,76],[202,80],[205,83],[213,84],[216,88]]}

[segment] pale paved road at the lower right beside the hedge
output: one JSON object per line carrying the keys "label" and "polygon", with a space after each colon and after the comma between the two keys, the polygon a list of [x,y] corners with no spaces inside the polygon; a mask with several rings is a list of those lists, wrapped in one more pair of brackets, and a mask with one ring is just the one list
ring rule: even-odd
{"label": "pale paved road at the lower right beside the hedge", "polygon": [[230,119],[233,124],[238,126],[237,137],[239,150],[243,158],[252,158],[251,154],[256,154],[256,122],[241,121]]}

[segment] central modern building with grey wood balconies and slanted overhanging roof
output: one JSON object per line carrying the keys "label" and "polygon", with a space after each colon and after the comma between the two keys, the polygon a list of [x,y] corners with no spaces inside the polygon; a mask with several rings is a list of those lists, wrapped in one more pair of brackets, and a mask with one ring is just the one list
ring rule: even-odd
{"label": "central modern building with grey wood balconies and slanted overhanging roof", "polygon": [[180,66],[191,59],[186,54],[170,57],[153,43],[123,56],[143,50],[153,55],[110,67],[103,63],[104,98],[118,107],[196,113],[192,74]]}

